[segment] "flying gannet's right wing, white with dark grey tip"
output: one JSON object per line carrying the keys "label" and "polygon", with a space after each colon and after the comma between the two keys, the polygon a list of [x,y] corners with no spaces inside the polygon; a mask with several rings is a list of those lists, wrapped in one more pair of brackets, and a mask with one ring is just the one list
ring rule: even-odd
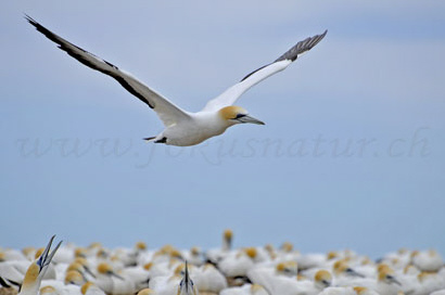
{"label": "flying gannet's right wing, white with dark grey tip", "polygon": [[297,42],[294,47],[288,50],[283,55],[278,57],[275,62],[259,67],[258,69],[252,72],[245,76],[240,82],[227,89],[216,99],[211,100],[203,111],[217,111],[221,107],[232,105],[245,91],[247,91],[252,86],[260,82],[267,77],[283,70],[293,61],[297,59],[302,53],[310,50],[315,47],[322,38],[325,38],[328,30],[325,30],[321,35],[316,35],[309,37],[303,41]]}

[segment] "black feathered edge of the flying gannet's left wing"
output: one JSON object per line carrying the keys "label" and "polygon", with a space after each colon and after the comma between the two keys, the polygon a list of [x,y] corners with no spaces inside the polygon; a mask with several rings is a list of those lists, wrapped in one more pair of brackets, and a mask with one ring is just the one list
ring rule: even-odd
{"label": "black feathered edge of the flying gannet's left wing", "polygon": [[[99,56],[96,56],[94,54],[71,43],[69,41],[66,41],[65,39],[59,37],[58,35],[55,35],[54,33],[50,31],[49,29],[47,29],[46,27],[43,27],[42,25],[40,25],[39,23],[37,23],[33,17],[30,17],[29,15],[25,14],[25,20],[31,24],[38,31],[40,31],[41,34],[43,34],[48,39],[50,39],[51,41],[53,41],[54,43],[59,44],[59,48],[63,51],[65,51],[68,55],[73,56],[74,59],[76,59],[77,61],[79,61],[80,63],[82,63],[84,65],[99,70],[105,75],[109,75],[111,77],[113,77],[114,79],[116,79],[128,92],[130,92],[131,94],[134,94],[135,97],[137,97],[139,100],[141,100],[142,102],[147,103],[151,108],[154,108],[154,103],[150,102],[148,98],[145,98],[144,95],[142,95],[141,93],[139,93],[134,87],[131,87],[128,81],[122,76],[122,75],[117,75],[116,70],[119,70],[119,68],[115,65],[113,65],[112,63],[109,63],[102,59],[100,59]],[[73,50],[73,48],[75,50]],[[88,57],[92,57],[96,59],[99,64],[91,62],[90,60],[86,59],[84,55],[79,54],[77,51],[80,51],[81,53],[86,54],[86,56]],[[100,66],[100,63],[105,63],[105,65],[109,66],[109,68],[106,66]],[[111,68],[110,68],[111,67]],[[114,69],[114,70],[113,70]]]}

